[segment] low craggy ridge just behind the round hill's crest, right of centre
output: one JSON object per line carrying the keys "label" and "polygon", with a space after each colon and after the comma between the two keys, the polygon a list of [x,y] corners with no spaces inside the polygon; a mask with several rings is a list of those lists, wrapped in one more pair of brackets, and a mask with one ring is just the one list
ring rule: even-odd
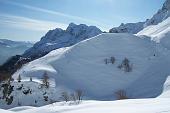
{"label": "low craggy ridge just behind the round hill's crest, right of centre", "polygon": [[145,22],[121,24],[109,30],[110,33],[131,33],[136,34],[144,28]]}

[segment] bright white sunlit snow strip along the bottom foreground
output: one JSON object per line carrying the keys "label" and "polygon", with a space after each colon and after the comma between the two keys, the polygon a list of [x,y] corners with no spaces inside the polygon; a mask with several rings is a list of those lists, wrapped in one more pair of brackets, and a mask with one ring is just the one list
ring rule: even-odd
{"label": "bright white sunlit snow strip along the bottom foreground", "polygon": [[80,105],[56,103],[39,108],[19,107],[0,113],[170,113],[170,99],[141,99],[121,101],[84,101]]}

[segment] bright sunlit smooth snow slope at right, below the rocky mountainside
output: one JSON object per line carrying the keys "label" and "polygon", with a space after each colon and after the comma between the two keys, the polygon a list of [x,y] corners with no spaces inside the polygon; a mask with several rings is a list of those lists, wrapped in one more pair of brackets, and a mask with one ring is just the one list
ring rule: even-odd
{"label": "bright sunlit smooth snow slope at right, below the rocky mountainside", "polygon": [[170,17],[159,23],[151,25],[140,31],[138,36],[145,35],[151,37],[151,40],[161,43],[165,48],[170,49]]}

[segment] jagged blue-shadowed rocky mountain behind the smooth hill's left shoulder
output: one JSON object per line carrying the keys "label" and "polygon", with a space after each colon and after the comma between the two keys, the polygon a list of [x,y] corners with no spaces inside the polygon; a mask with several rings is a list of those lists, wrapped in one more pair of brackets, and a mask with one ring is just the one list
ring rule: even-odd
{"label": "jagged blue-shadowed rocky mountain behind the smooth hill's left shoulder", "polygon": [[102,33],[102,31],[95,26],[70,23],[66,30],[60,28],[50,30],[39,42],[27,50],[23,56],[33,59],[39,58],[54,49],[74,45],[100,33]]}

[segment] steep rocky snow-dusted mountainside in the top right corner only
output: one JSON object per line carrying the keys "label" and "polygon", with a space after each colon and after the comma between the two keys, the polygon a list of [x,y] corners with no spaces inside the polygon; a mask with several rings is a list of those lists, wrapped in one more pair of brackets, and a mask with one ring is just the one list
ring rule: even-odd
{"label": "steep rocky snow-dusted mountainside in the top right corner only", "polygon": [[170,16],[170,1],[166,0],[163,4],[163,7],[151,18],[148,19],[145,23],[145,27],[149,25],[156,25]]}

